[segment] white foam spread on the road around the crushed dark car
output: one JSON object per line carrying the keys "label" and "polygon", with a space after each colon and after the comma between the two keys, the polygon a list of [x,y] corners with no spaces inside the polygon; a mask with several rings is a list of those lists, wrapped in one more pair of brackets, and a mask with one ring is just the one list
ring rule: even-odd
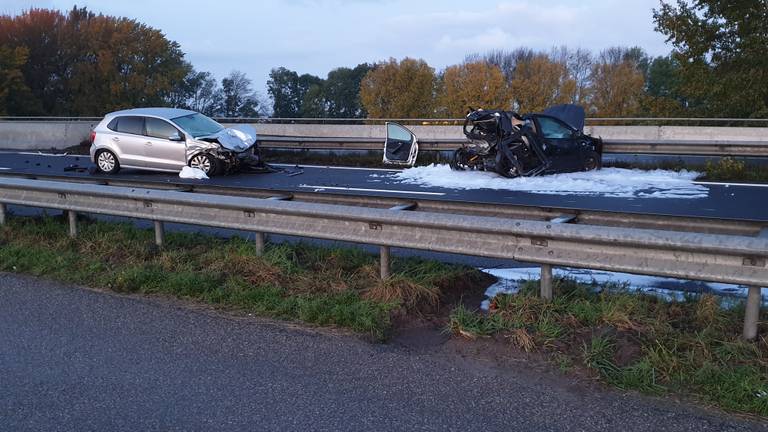
{"label": "white foam spread on the road around the crushed dark car", "polygon": [[539,177],[502,177],[486,171],[452,171],[429,165],[390,176],[401,183],[449,189],[495,189],[548,195],[602,195],[623,198],[705,198],[709,189],[694,180],[694,171],[603,168],[597,171]]}

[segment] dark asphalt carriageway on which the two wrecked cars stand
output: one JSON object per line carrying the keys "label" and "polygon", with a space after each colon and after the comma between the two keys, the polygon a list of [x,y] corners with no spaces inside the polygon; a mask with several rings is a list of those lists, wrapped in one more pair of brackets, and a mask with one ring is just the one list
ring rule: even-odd
{"label": "dark asphalt carriageway on which the two wrecked cars stand", "polygon": [[[68,170],[91,166],[88,156],[39,155],[29,153],[0,153],[0,173],[26,175],[64,175],[94,177],[88,172]],[[395,170],[372,170],[340,167],[286,167],[288,172],[269,174],[236,174],[210,180],[180,179],[174,173],[121,170],[112,178],[134,179],[142,182],[202,183],[233,188],[273,189],[334,194],[373,195],[397,198],[428,198],[435,200],[477,202],[495,205],[531,205],[640,214],[690,217],[727,218],[768,221],[768,185],[706,184],[706,197],[634,198],[605,195],[549,195],[525,191],[494,189],[457,190],[405,184],[382,178]],[[298,175],[289,175],[298,174]],[[377,176],[377,177],[374,177]],[[96,175],[100,177],[103,175]],[[759,205],[758,205],[759,204]]]}

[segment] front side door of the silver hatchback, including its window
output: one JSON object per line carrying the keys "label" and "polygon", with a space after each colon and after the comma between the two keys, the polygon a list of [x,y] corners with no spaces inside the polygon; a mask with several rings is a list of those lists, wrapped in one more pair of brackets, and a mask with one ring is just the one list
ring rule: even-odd
{"label": "front side door of the silver hatchback, including its window", "polygon": [[154,117],[147,117],[145,124],[147,168],[178,171],[187,164],[187,146],[180,130]]}

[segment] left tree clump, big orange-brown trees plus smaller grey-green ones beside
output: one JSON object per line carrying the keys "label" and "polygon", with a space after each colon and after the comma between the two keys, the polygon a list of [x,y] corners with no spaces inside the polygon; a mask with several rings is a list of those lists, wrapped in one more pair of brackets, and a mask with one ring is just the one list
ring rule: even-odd
{"label": "left tree clump, big orange-brown trees plus smaller grey-green ones beside", "polygon": [[222,117],[268,112],[245,74],[219,83],[196,71],[178,43],[136,20],[86,8],[0,16],[0,115],[101,116],[142,106]]}

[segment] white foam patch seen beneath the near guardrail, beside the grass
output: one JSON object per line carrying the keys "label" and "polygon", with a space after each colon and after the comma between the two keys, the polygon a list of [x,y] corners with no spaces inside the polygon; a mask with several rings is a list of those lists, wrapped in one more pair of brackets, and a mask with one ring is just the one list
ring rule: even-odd
{"label": "white foam patch seen beneath the near guardrail, beside the grass", "polygon": [[[541,276],[538,267],[520,268],[488,268],[482,271],[497,278],[497,282],[485,291],[486,300],[480,307],[488,310],[490,300],[498,294],[515,294],[520,290],[520,281],[536,280]],[[635,275],[630,273],[614,273],[601,270],[586,270],[574,268],[555,268],[553,275],[556,277],[570,278],[584,284],[613,283],[624,285],[628,291],[641,292],[658,296],[664,300],[683,300],[686,295],[696,293],[710,293],[724,296],[735,301],[723,301],[724,306],[729,306],[747,297],[748,288],[739,285],[730,285],[715,282],[687,281],[681,279],[665,278],[658,276]],[[768,298],[763,296],[763,304]]]}

